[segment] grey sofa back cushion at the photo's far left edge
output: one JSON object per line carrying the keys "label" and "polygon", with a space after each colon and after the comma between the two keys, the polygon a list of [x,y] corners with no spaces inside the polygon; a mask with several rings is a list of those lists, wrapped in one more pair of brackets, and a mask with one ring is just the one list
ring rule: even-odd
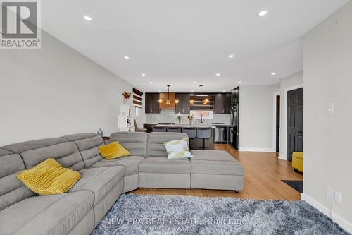
{"label": "grey sofa back cushion at the photo's far left edge", "polygon": [[20,155],[0,149],[0,211],[35,195],[16,177],[24,169]]}

